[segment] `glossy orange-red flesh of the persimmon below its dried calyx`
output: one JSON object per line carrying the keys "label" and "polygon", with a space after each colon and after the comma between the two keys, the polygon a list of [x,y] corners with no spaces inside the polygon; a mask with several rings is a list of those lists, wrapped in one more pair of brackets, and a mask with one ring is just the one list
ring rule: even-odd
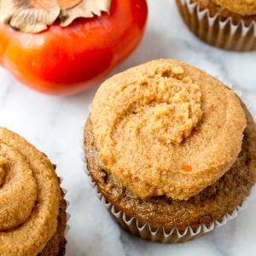
{"label": "glossy orange-red flesh of the persimmon below its dried calyx", "polygon": [[79,18],[44,32],[0,23],[0,65],[33,90],[65,96],[85,90],[113,70],[143,37],[145,0],[112,0],[109,15]]}

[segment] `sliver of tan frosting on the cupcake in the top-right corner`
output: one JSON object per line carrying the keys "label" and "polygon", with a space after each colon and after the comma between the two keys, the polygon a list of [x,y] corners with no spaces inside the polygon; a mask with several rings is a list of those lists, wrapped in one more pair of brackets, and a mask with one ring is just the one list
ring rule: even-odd
{"label": "sliver of tan frosting on the cupcake in the top-right corner", "polygon": [[239,15],[256,15],[256,0],[211,0]]}

